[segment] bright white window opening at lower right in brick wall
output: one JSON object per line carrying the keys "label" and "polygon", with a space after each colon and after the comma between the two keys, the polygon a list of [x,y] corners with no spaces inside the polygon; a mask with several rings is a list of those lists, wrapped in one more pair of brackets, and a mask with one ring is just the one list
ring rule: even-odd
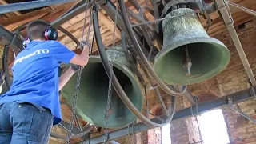
{"label": "bright white window opening at lower right in brick wall", "polygon": [[198,118],[204,144],[230,143],[222,110],[211,110]]}

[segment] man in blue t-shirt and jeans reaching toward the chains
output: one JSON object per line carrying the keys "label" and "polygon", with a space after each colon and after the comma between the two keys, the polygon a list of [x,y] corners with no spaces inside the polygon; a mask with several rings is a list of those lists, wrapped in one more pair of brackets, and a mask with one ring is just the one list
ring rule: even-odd
{"label": "man in blue t-shirt and jeans reaching toward the chains", "polygon": [[[15,58],[13,84],[0,96],[0,144],[48,143],[51,127],[62,121],[58,91],[89,60],[90,46],[78,55],[60,42],[47,40],[46,22],[30,22],[28,42]],[[71,63],[58,78],[58,66]]]}

